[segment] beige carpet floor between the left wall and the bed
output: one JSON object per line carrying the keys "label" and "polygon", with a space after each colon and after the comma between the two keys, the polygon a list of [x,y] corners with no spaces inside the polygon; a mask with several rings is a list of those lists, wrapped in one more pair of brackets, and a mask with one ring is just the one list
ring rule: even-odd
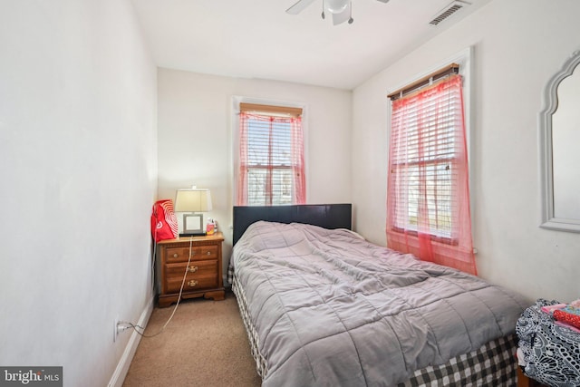
{"label": "beige carpet floor between the left wall and the bed", "polygon": [[[156,334],[173,311],[155,308],[145,334]],[[182,301],[163,333],[141,338],[123,386],[261,384],[236,297]]]}

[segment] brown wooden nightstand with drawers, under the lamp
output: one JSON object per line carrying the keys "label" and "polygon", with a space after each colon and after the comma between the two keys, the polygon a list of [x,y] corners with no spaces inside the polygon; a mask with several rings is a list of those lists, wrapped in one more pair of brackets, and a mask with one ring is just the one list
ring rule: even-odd
{"label": "brown wooden nightstand with drawers, under the lamp", "polygon": [[[157,244],[157,281],[159,305],[176,303],[185,275],[181,299],[206,297],[223,300],[226,292],[222,278],[221,244],[224,237],[216,233],[207,237],[179,237]],[[188,266],[189,245],[191,260]]]}

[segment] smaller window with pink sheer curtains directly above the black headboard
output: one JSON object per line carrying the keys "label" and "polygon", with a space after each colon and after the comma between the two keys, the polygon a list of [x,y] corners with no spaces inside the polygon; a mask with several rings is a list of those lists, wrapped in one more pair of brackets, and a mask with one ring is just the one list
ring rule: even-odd
{"label": "smaller window with pink sheer curtains directly above the black headboard", "polygon": [[302,109],[240,103],[238,206],[304,204]]}

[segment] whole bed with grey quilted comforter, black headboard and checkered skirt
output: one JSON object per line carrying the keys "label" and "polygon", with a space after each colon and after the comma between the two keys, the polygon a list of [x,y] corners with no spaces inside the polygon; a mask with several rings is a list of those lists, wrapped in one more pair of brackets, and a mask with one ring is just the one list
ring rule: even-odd
{"label": "whole bed with grey quilted comforter, black headboard and checkered skirt", "polygon": [[228,280],[262,385],[515,385],[527,301],[373,245],[351,214],[234,208]]}

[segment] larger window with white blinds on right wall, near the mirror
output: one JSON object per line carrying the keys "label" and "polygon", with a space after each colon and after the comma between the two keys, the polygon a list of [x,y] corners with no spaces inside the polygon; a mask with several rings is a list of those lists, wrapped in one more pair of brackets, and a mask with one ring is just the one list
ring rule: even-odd
{"label": "larger window with white blinds on right wall, near the mirror", "polygon": [[[441,82],[428,91],[393,102],[391,117],[392,226],[451,238],[457,200],[460,88]],[[420,222],[422,224],[420,225]]]}

